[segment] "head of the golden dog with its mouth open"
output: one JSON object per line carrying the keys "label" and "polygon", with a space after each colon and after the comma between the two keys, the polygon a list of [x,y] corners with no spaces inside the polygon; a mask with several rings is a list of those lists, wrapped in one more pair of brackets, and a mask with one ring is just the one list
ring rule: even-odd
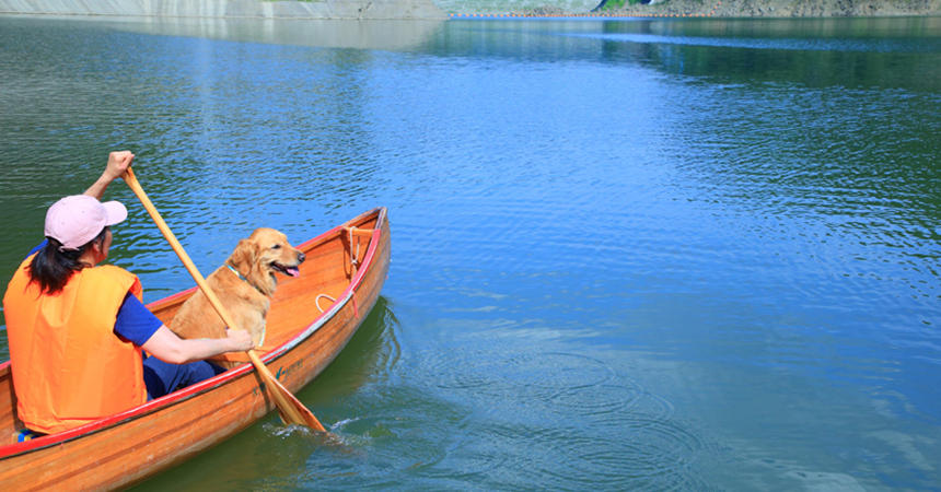
{"label": "head of the golden dog with its mouth open", "polygon": [[268,227],[256,229],[239,242],[225,261],[265,295],[275,293],[278,280],[275,273],[289,277],[301,274],[298,267],[304,262],[304,254],[288,243],[288,236]]}

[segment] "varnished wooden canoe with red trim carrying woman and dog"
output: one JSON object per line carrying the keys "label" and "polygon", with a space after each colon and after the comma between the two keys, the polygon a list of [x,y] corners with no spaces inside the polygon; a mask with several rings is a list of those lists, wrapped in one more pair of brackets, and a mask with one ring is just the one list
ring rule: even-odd
{"label": "varnished wooden canoe with red trim carrying woman and dog", "polygon": [[[379,298],[390,261],[386,210],[363,213],[297,248],[307,259],[300,277],[278,280],[262,355],[292,393],[337,356]],[[169,324],[195,290],[148,308]],[[125,412],[18,443],[23,425],[7,361],[0,365],[0,490],[128,485],[236,434],[272,409],[252,364],[242,364]]]}

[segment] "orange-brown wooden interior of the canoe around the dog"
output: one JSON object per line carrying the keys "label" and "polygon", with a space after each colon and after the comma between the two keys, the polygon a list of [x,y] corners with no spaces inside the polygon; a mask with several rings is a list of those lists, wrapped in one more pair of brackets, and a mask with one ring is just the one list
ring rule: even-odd
{"label": "orange-brown wooden interior of the canoe around the dog", "polygon": [[[350,281],[356,278],[357,267],[352,260],[363,259],[371,239],[368,232],[375,227],[380,216],[383,216],[379,210],[381,209],[295,245],[304,251],[306,260],[300,267],[300,277],[278,276],[278,290],[271,300],[267,317],[265,344],[260,348],[263,358],[266,351],[292,340],[311,326],[321,316],[321,309],[328,312],[334,304],[330,298],[340,298]],[[349,226],[355,227],[352,234]],[[196,288],[193,288],[156,301],[148,305],[148,308],[169,325],[179,306],[195,290]],[[237,370],[236,367],[232,371]],[[3,364],[0,366],[0,446],[15,443],[19,431],[23,429],[22,422],[16,419],[15,409],[10,366]]]}

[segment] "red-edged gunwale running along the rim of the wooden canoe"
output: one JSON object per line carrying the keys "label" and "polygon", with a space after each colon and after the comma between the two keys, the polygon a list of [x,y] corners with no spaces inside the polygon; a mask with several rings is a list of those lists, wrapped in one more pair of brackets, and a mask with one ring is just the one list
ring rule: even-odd
{"label": "red-edged gunwale running along the rim of the wooden canoe", "polygon": [[[353,274],[352,279],[350,279],[349,284],[344,289],[342,293],[338,296],[337,301],[333,303],[333,305],[325,312],[318,314],[313,321],[307,325],[305,328],[297,331],[294,337],[291,337],[277,348],[265,353],[260,359],[262,361],[268,365],[275,361],[277,361],[282,355],[289,353],[292,349],[303,343],[310,337],[312,337],[317,330],[320,330],[323,326],[329,323],[350,301],[353,302],[355,309],[358,311],[358,306],[356,306],[355,294],[357,289],[363,282],[367,272],[370,271],[372,267],[373,260],[376,257],[376,251],[379,248],[380,239],[382,237],[382,227],[386,221],[386,209],[383,207],[372,209],[362,214],[357,215],[356,218],[337,225],[336,227],[328,230],[306,242],[298,246],[298,249],[306,250],[305,248],[310,248],[320,243],[325,243],[330,241],[335,235],[339,234],[342,231],[342,227],[348,224],[359,223],[363,220],[375,215],[375,227],[370,236],[369,248],[365,251],[365,255],[358,268],[356,274]],[[173,301],[179,298],[181,296],[190,295],[191,292],[196,291],[196,286],[191,289],[187,289],[185,291],[178,292],[176,294],[170,295],[167,297],[154,301],[153,303],[148,304],[148,308],[153,307],[162,307],[166,304],[172,304]],[[372,306],[365,306],[371,308]],[[361,323],[361,321],[360,321]],[[336,355],[336,354],[334,354]],[[10,361],[5,361],[0,363],[0,372],[10,370]],[[23,443],[13,443],[0,446],[0,461],[21,456],[25,454],[30,454],[33,452],[38,452],[48,447],[57,446],[70,441],[79,440],[85,436],[90,436],[96,434],[98,432],[106,431],[117,425],[125,424],[127,422],[138,420],[144,418],[149,414],[159,412],[163,409],[169,409],[178,403],[182,403],[191,398],[196,398],[206,393],[216,390],[220,387],[223,387],[229,384],[236,383],[243,377],[251,377],[251,374],[255,372],[255,368],[252,364],[245,363],[240,365],[239,367],[229,370],[224,373],[221,373],[217,376],[213,376],[209,379],[205,379],[202,382],[196,383],[194,385],[187,386],[181,390],[174,391],[170,395],[150,400],[139,407],[135,407],[128,409],[124,412],[116,413],[94,422],[89,422],[85,425],[65,431],[57,434],[50,434],[47,436],[37,437],[31,441],[26,441]],[[260,382],[259,382],[260,384]],[[268,410],[274,410],[274,407]],[[266,414],[268,413],[266,412]]]}

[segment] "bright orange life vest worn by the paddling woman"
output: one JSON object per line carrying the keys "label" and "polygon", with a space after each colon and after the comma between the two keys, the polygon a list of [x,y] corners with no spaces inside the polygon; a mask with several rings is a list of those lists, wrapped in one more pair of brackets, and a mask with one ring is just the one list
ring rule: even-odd
{"label": "bright orange life vest worn by the paddling woman", "polygon": [[16,412],[51,434],[147,401],[141,349],[114,332],[128,292],[140,281],[114,266],[72,274],[61,292],[40,294],[26,258],[3,296]]}

